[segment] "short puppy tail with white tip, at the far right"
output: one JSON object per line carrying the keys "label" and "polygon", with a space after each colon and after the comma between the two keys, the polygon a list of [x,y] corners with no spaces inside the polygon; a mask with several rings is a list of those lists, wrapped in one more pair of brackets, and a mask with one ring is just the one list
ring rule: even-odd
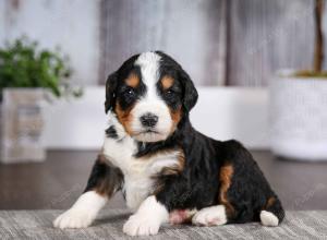
{"label": "short puppy tail with white tip, at the far right", "polygon": [[268,199],[265,207],[261,212],[261,221],[264,226],[276,227],[284,218],[284,211],[277,196]]}

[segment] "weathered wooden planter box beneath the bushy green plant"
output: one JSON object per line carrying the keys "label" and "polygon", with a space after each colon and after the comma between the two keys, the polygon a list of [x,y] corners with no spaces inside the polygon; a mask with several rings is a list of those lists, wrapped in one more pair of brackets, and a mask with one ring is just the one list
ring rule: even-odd
{"label": "weathered wooden planter box beneath the bushy green plant", "polygon": [[3,89],[0,161],[41,161],[46,158],[43,109],[44,89]]}

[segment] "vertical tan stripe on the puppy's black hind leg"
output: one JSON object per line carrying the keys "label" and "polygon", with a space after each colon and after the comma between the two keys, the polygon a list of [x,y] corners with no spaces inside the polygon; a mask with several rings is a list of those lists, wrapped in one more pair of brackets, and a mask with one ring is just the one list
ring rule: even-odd
{"label": "vertical tan stripe on the puppy's black hind leg", "polygon": [[233,214],[234,208],[228,200],[227,192],[231,185],[231,179],[233,176],[234,169],[231,165],[226,165],[220,168],[219,180],[220,180],[220,194],[219,202],[226,206],[228,215]]}

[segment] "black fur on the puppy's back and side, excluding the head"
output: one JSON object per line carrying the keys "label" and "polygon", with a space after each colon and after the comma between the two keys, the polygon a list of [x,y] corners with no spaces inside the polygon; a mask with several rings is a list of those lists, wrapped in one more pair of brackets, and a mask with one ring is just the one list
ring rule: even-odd
{"label": "black fur on the puppy's back and side, excluding the head", "polygon": [[275,197],[276,202],[267,211],[282,220],[284,213],[280,201],[251,154],[239,142],[211,140],[196,132],[189,122],[178,131],[182,133],[177,143],[184,149],[186,165],[178,176],[162,176],[164,189],[157,194],[169,211],[201,209],[220,204],[219,172],[221,166],[229,164],[234,169],[227,193],[234,208],[228,216],[229,223],[258,220],[269,197]]}

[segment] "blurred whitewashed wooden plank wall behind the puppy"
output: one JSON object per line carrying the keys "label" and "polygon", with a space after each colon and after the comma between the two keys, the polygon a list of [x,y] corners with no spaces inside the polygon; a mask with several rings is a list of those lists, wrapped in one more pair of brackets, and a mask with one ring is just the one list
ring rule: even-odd
{"label": "blurred whitewashed wooden plank wall behind the puppy", "polygon": [[82,84],[104,83],[131,55],[161,49],[197,85],[265,86],[279,69],[312,67],[313,7],[314,0],[0,0],[0,44],[27,34],[45,47],[61,45]]}

